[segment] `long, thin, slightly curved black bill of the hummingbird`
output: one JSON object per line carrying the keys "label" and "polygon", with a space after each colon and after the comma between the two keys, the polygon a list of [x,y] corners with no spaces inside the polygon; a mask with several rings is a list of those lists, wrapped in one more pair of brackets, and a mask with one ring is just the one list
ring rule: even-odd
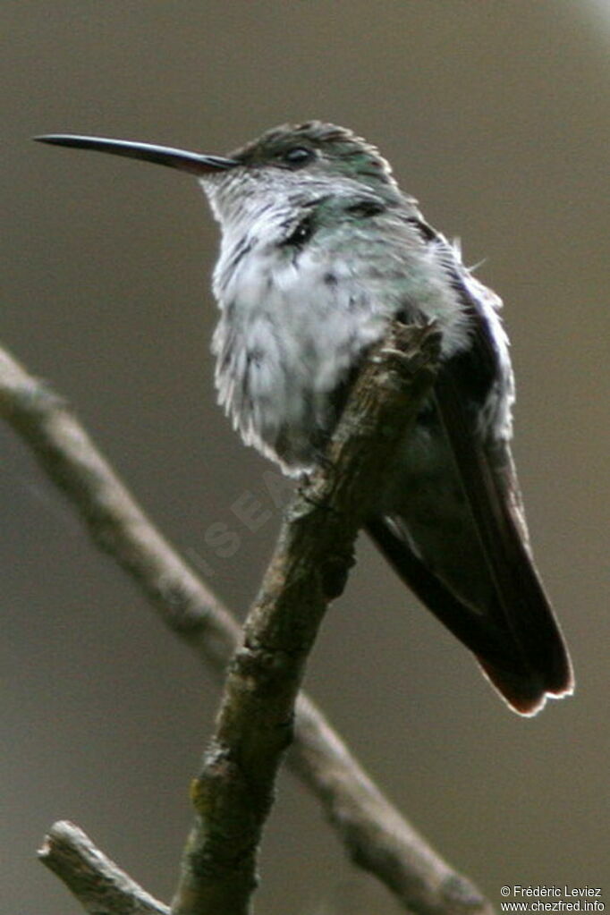
{"label": "long, thin, slightly curved black bill of the hummingbird", "polygon": [[228,159],[224,156],[204,156],[200,153],[189,153],[185,149],[174,149],[172,146],[133,143],[131,140],[109,140],[101,136],[46,134],[35,136],[34,139],[39,143],[74,146],[77,149],[97,149],[99,152],[112,153],[114,156],[144,159],[145,162],[156,162],[157,165],[177,168],[179,171],[185,171],[198,177],[226,171],[228,168],[239,165],[236,159]]}

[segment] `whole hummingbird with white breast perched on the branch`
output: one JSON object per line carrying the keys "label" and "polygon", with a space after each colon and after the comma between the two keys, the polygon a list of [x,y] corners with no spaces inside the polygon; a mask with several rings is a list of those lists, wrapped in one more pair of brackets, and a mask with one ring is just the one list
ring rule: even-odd
{"label": "whole hummingbird with white breast perched on the branch", "polygon": [[219,404],[247,445],[299,477],[321,461],[389,322],[434,322],[433,392],[366,529],[514,711],[573,692],[532,558],[510,450],[514,379],[499,297],[425,221],[374,145],[284,124],[228,156],[82,135],[44,143],[177,168],[219,222],[212,351]]}

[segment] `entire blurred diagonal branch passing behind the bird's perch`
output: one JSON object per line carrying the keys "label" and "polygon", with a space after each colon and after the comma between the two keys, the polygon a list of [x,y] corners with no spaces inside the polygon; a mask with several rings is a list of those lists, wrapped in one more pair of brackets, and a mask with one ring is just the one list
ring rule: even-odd
{"label": "entire blurred diagonal branch passing behind the bird's perch", "polygon": [[[222,676],[239,626],[156,531],[59,397],[0,350],[0,415],[32,448],[92,539],[123,566],[166,626]],[[421,915],[488,910],[391,807],[324,716],[301,696],[288,766],[321,802],[348,854]]]}

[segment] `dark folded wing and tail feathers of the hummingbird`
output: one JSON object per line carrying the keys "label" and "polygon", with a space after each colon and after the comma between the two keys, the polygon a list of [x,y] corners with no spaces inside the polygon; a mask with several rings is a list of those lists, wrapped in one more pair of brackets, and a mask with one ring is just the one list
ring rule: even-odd
{"label": "dark folded wing and tail feathers of the hummingbird", "polygon": [[[426,241],[433,243],[433,230],[425,228]],[[439,236],[434,238],[444,243]],[[475,653],[508,703],[521,714],[532,715],[544,705],[546,694],[572,691],[572,668],[530,555],[508,442],[485,441],[476,428],[477,394],[489,390],[498,371],[492,331],[456,269],[450,278],[470,320],[472,347],[444,362],[434,387],[434,404],[455,458],[496,601],[480,608],[480,613],[469,608],[414,554],[390,520],[378,517],[369,522],[368,531],[415,595]]]}

